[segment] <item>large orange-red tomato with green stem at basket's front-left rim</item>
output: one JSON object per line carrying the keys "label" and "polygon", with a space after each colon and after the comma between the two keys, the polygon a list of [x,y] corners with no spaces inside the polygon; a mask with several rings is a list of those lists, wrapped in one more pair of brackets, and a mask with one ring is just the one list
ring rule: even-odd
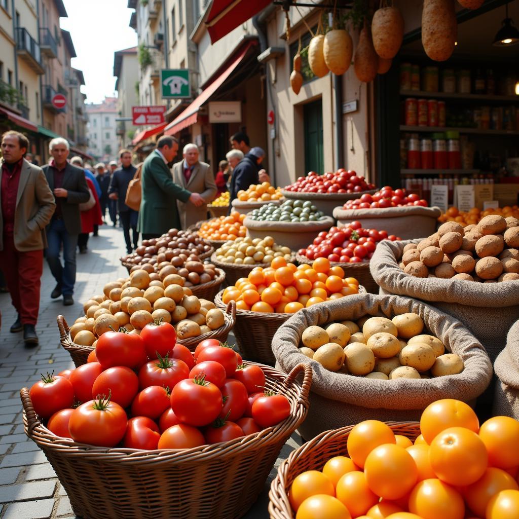
{"label": "large orange-red tomato with green stem at basket's front-left rim", "polygon": [[125,410],[108,397],[76,407],[70,417],[69,431],[75,442],[115,447],[125,435],[127,423]]}

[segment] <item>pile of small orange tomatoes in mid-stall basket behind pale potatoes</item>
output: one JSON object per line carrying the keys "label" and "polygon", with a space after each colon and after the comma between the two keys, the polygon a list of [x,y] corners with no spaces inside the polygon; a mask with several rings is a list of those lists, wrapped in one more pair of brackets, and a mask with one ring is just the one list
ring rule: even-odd
{"label": "pile of small orange tomatoes in mid-stall basket behind pale potatoes", "polygon": [[279,256],[270,267],[255,267],[247,278],[228,286],[222,301],[236,301],[239,310],[268,313],[294,313],[302,308],[359,293],[359,281],[345,278],[344,270],[332,267],[326,258],[313,264],[286,263]]}

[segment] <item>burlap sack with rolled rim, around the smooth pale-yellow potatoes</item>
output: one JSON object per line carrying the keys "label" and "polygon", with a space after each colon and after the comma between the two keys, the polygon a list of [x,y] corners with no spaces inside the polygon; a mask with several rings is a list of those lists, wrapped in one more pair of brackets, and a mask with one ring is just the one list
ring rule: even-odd
{"label": "burlap sack with rolled rim, around the smooth pale-yellow potatoes", "polygon": [[[415,312],[427,330],[465,363],[459,375],[431,379],[377,380],[326,370],[298,351],[308,326],[331,321],[356,320],[364,315],[392,318]],[[490,383],[492,365],[483,346],[460,322],[443,312],[411,299],[373,294],[352,295],[304,308],[282,324],[272,339],[276,364],[288,373],[301,362],[313,370],[308,416],[299,431],[309,440],[327,429],[357,424],[362,420],[419,420],[435,400],[456,398],[473,402]]]}

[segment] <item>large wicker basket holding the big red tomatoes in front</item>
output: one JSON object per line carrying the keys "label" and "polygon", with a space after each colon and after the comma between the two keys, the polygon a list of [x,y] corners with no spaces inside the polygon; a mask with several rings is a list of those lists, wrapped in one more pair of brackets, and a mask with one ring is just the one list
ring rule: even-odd
{"label": "large wicker basket holding the big red tomatoes in front", "polygon": [[[237,519],[254,503],[290,435],[305,419],[312,370],[288,376],[262,366],[266,388],[291,402],[289,418],[236,440],[186,450],[102,448],[58,438],[38,420],[29,389],[20,392],[25,433],[43,450],[85,519]],[[296,377],[304,371],[303,383]]]}

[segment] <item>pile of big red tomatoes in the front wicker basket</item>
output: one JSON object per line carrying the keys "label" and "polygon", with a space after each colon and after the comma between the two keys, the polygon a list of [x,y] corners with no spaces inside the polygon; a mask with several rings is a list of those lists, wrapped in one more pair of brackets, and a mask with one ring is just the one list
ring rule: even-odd
{"label": "pile of big red tomatoes in the front wicker basket", "polygon": [[185,449],[277,425],[289,400],[265,391],[265,374],[216,339],[192,354],[173,326],[107,332],[87,364],[42,376],[30,390],[53,434],[100,447]]}

